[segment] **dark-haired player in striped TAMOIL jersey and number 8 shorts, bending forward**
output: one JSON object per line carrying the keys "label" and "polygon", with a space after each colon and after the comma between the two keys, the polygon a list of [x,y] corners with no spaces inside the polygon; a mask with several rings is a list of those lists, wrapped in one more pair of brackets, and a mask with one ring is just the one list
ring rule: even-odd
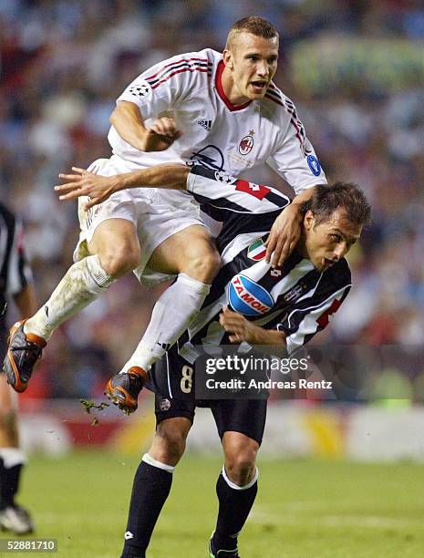
{"label": "dark-haired player in striped TAMOIL jersey and number 8 shorts, bending forward", "polygon": [[[162,185],[190,191],[202,211],[222,224],[216,239],[221,269],[211,292],[188,331],[150,371],[148,387],[156,394],[157,430],[136,472],[125,558],[145,555],[171,490],[171,473],[185,449],[196,407],[195,346],[247,342],[285,346],[288,354],[304,346],[345,300],[351,277],[344,256],[370,216],[367,200],[356,185],[315,188],[302,209],[302,234],[295,251],[281,269],[274,269],[266,262],[265,242],[275,219],[290,203],[281,192],[202,166],[190,172],[182,166],[148,172],[109,178],[69,175],[62,190],[78,195],[83,187],[97,198],[104,191],[118,191],[122,183],[131,187],[160,180]],[[136,364],[137,353],[131,357]],[[129,389],[128,400],[137,400],[141,388],[137,378],[124,373],[113,381],[120,389]],[[255,460],[264,433],[266,399],[209,400],[202,406],[212,409],[225,458],[216,485],[219,513],[210,556],[236,558],[237,536],[257,492]]]}

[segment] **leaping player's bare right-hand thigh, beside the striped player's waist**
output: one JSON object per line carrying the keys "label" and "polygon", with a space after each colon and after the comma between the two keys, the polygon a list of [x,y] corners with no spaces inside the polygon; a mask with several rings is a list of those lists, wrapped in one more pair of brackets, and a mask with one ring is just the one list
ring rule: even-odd
{"label": "leaping player's bare right-hand thigh, beside the striped player's waist", "polygon": [[151,254],[149,267],[164,274],[191,274],[196,267],[208,267],[212,280],[219,263],[219,253],[209,231],[202,225],[191,225],[161,243]]}

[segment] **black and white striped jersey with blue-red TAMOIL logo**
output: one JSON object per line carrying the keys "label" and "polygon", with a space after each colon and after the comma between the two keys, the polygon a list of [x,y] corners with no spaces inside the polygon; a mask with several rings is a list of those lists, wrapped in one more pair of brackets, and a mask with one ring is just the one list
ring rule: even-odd
{"label": "black and white striped jersey with blue-red TAMOIL logo", "polygon": [[203,212],[222,222],[217,238],[222,265],[201,311],[179,342],[181,356],[190,362],[196,344],[229,343],[218,321],[223,305],[256,325],[283,331],[289,353],[324,329],[349,292],[350,270],[342,259],[319,272],[296,252],[282,269],[265,262],[266,237],[290,200],[271,187],[202,166],[191,169],[187,189]]}

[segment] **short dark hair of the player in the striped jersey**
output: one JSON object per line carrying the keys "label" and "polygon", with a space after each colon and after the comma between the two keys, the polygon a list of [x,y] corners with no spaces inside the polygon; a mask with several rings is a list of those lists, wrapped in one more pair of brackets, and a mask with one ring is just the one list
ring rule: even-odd
{"label": "short dark hair of the player in the striped jersey", "polygon": [[304,215],[308,210],[313,212],[316,224],[330,219],[337,209],[345,210],[347,219],[359,226],[371,219],[371,206],[365,193],[351,182],[315,186],[312,198],[302,206]]}

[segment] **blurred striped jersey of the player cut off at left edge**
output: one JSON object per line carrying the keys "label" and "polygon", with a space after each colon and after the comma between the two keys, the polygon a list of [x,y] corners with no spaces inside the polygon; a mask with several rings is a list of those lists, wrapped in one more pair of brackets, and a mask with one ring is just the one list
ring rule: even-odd
{"label": "blurred striped jersey of the player cut off at left edge", "polygon": [[[8,296],[20,293],[32,281],[26,262],[22,223],[0,203],[0,310]],[[0,317],[2,335],[5,316]]]}

